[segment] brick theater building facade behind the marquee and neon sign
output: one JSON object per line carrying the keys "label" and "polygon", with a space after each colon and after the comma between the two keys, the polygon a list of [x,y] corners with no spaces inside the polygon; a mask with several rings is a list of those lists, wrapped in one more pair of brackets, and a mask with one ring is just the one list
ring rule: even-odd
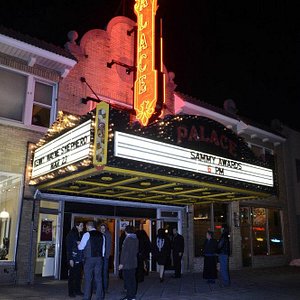
{"label": "brick theater building facade behind the marquee and neon sign", "polygon": [[[47,57],[49,64],[44,63],[42,66],[39,64],[29,66],[30,60],[24,60],[21,54],[14,57],[12,54],[1,52],[0,67],[5,71],[30,75],[42,82],[46,80],[47,83],[51,83],[57,91],[53,93],[54,100],[51,106],[54,116],[58,111],[84,116],[96,107],[99,100],[129,114],[133,110],[134,72],[127,72],[126,67],[120,64],[112,64],[109,67],[108,63],[114,60],[125,66],[135,65],[134,35],[128,34],[135,25],[126,17],[116,17],[109,22],[106,30],[95,29],[85,33],[80,43],[77,41],[76,32],[72,32],[66,43],[68,54],[64,51],[57,54],[56,51],[48,48],[45,50],[43,45],[36,44],[35,47],[41,47],[39,49],[50,51],[54,55],[56,67],[51,67],[53,62],[50,64],[48,52],[47,55],[42,54]],[[7,38],[8,34],[4,32],[1,36]],[[22,39],[19,39],[19,42],[23,43]],[[35,53],[35,47],[29,49],[31,54]],[[11,221],[11,224],[15,222],[13,228],[17,239],[12,257],[0,261],[0,272],[4,274],[0,279],[2,282],[31,283],[35,275],[65,278],[64,237],[75,220],[93,219],[108,223],[114,238],[111,262],[111,272],[114,273],[118,262],[119,231],[128,223],[146,229],[151,239],[161,226],[169,229],[172,226],[178,227],[186,242],[184,272],[202,270],[203,258],[200,253],[199,237],[202,238],[208,228],[214,229],[219,234],[219,226],[224,222],[231,228],[232,269],[243,266],[283,265],[292,257],[299,255],[297,245],[292,242],[291,226],[294,226],[295,220],[290,217],[292,209],[287,197],[288,177],[283,176],[286,170],[283,163],[287,152],[287,148],[284,148],[286,137],[252,121],[242,120],[235,113],[175,92],[174,74],[169,73],[166,67],[164,72],[166,75],[164,115],[198,116],[217,122],[237,139],[242,138],[257,158],[263,156],[263,159],[275,159],[274,177],[278,187],[276,193],[265,193],[264,197],[260,197],[257,196],[259,193],[256,195],[250,190],[247,194],[247,188],[241,188],[241,184],[238,187],[212,184],[213,188],[224,194],[228,193],[228,196],[242,190],[248,199],[228,197],[227,200],[222,198],[222,201],[218,201],[213,197],[213,200],[209,200],[203,194],[202,196],[208,200],[199,201],[195,205],[178,205],[175,202],[155,204],[151,201],[137,203],[113,196],[110,199],[89,197],[87,194],[75,193],[75,188],[78,188],[75,184],[71,186],[73,193],[53,192],[51,189],[49,192],[46,187],[34,195],[35,189],[40,189],[40,186],[28,186],[26,171],[31,163],[30,146],[31,143],[35,144],[44,137],[47,128],[25,124],[22,121],[18,123],[1,116],[0,153],[1,158],[5,159],[1,159],[0,171],[9,178],[14,177],[11,174],[17,174],[21,182],[20,196],[16,198],[15,204],[18,219]],[[4,100],[1,98],[1,101]],[[51,128],[54,119],[50,118],[48,127]],[[82,177],[85,180],[83,175]],[[2,187],[6,185],[2,184]],[[261,214],[262,223],[253,217],[255,214]],[[52,240],[43,241],[41,224],[49,220],[52,222]],[[271,236],[269,228],[279,230],[277,235]],[[50,255],[52,247],[55,252]],[[155,270],[154,264],[152,270]]]}

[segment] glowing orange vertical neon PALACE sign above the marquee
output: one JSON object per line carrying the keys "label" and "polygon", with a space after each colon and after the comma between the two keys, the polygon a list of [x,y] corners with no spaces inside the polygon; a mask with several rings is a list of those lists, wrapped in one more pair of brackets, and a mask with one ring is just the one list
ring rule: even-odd
{"label": "glowing orange vertical neon PALACE sign above the marquee", "polygon": [[148,124],[157,101],[155,70],[155,14],[157,0],[135,0],[137,16],[137,69],[134,83],[134,109],[137,120]]}

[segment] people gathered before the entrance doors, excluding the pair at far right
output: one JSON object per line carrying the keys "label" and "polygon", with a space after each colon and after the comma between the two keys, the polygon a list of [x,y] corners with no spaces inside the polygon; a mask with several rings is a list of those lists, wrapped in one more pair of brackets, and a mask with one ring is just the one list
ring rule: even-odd
{"label": "people gathered before the entrance doors, excluding the pair at far right", "polygon": [[[66,237],[67,261],[69,267],[68,292],[69,297],[83,295],[84,300],[90,300],[93,291],[97,300],[102,300],[108,289],[109,256],[112,237],[106,224],[97,230],[93,221],[84,224],[75,222],[74,227]],[[172,240],[159,229],[156,238],[151,243],[145,230],[137,230],[131,225],[125,227],[121,238],[119,271],[122,272],[126,296],[122,300],[134,300],[138,282],[144,281],[145,273],[149,272],[149,255],[152,253],[157,262],[160,281],[164,280],[165,265],[172,258],[174,277],[181,276],[181,259],[184,251],[182,235],[173,229]],[[84,273],[84,291],[81,290],[82,271]]]}

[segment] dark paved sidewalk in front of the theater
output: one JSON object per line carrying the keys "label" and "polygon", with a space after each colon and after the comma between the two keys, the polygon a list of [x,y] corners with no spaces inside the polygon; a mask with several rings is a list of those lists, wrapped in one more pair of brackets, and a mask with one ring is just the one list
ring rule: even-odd
{"label": "dark paved sidewalk in front of the theater", "polygon": [[[300,299],[300,267],[233,270],[230,277],[230,287],[222,287],[218,280],[207,284],[202,273],[185,273],[179,279],[166,273],[164,282],[160,283],[158,273],[151,272],[139,283],[136,300]],[[111,275],[105,300],[119,300],[124,296],[123,280]],[[65,280],[42,278],[33,285],[0,285],[0,299],[81,300],[82,296],[69,298]],[[96,300],[95,295],[92,300]]]}

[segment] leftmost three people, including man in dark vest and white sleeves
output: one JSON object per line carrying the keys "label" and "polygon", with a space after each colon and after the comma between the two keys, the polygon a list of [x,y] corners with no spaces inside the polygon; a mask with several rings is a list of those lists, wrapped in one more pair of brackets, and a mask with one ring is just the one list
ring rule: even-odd
{"label": "leftmost three people, including man in dark vest and white sleeves", "polygon": [[[111,233],[104,223],[100,230],[96,229],[93,221],[85,226],[86,232],[82,235],[84,224],[75,222],[66,237],[69,297],[83,295],[84,300],[89,300],[95,288],[96,299],[102,300],[108,289]],[[81,291],[82,270],[84,292]]]}

